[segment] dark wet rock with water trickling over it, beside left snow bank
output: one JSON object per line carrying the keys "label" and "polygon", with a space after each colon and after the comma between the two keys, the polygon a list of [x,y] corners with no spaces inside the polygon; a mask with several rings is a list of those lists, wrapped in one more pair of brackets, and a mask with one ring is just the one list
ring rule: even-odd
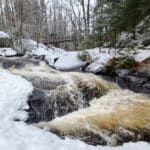
{"label": "dark wet rock with water trickling over it, beside left snow bank", "polygon": [[[96,88],[81,88],[68,91],[65,82],[53,82],[45,78],[28,78],[35,90],[29,97],[29,118],[27,123],[50,121],[89,106],[90,100],[102,94]],[[41,83],[41,84],[40,84]]]}

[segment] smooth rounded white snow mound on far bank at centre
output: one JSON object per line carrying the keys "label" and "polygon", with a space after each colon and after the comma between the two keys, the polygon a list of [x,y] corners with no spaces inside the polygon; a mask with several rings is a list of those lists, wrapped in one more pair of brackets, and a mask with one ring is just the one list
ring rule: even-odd
{"label": "smooth rounded white snow mound on far bank at centre", "polygon": [[71,70],[81,68],[85,65],[78,57],[78,52],[68,52],[66,55],[60,57],[54,64],[56,69],[59,70]]}

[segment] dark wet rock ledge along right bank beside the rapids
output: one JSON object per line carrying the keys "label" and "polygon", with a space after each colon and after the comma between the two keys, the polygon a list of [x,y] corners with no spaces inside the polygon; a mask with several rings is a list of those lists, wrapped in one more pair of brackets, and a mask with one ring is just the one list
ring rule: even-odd
{"label": "dark wet rock ledge along right bank beside the rapids", "polygon": [[97,73],[105,78],[115,81],[124,89],[134,92],[150,94],[150,74],[145,72],[135,72],[129,69],[105,69]]}

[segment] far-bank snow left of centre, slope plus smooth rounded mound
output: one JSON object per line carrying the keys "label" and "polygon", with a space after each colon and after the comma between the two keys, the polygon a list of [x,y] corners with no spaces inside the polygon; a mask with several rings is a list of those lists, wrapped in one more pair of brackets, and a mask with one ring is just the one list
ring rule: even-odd
{"label": "far-bank snow left of centre, slope plus smooth rounded mound", "polygon": [[33,40],[24,40],[24,46],[31,51],[29,54],[45,56],[48,64],[59,70],[71,70],[85,65],[85,62],[79,59],[77,51],[67,52],[56,47],[46,47],[41,43],[37,47],[37,43]]}

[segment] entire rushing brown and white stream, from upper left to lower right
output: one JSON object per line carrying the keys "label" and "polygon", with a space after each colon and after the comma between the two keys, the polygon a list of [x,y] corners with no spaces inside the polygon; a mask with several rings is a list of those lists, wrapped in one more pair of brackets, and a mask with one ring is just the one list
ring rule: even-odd
{"label": "entire rushing brown and white stream, from upper left to lower right", "polygon": [[24,59],[3,59],[0,69],[32,82],[28,123],[89,144],[150,141],[149,96],[92,74],[59,72]]}

